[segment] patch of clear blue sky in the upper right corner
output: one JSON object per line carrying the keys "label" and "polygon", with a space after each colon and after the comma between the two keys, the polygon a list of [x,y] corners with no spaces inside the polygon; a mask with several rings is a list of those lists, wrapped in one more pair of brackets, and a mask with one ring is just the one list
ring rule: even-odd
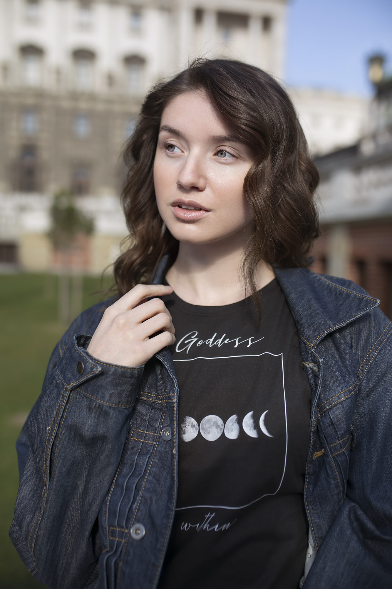
{"label": "patch of clear blue sky in the upper right corner", "polygon": [[366,59],[378,51],[391,71],[392,0],[290,0],[288,84],[370,94]]}

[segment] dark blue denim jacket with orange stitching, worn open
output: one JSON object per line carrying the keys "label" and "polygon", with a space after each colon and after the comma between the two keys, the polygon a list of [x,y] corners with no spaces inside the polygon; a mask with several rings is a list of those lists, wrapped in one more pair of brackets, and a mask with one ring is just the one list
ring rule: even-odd
{"label": "dark blue denim jacket with orange stitching, worn open", "polygon": [[[392,587],[392,324],[378,300],[348,280],[307,269],[276,276],[311,386],[303,589]],[[89,355],[112,302],[83,312],[62,337],[17,442],[10,535],[51,589],[155,588],[172,526],[172,358],[163,349],[145,366],[125,368]]]}

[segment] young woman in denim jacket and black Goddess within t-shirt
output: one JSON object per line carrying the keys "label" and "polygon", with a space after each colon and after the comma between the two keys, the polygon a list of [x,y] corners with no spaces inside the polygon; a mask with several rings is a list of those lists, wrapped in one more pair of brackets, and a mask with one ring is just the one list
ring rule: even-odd
{"label": "young woman in denim jacket and black Goddess within t-shirt", "polygon": [[198,60],[125,155],[119,296],[63,336],[18,439],[25,564],[53,589],[391,587],[391,323],[306,268],[286,92]]}

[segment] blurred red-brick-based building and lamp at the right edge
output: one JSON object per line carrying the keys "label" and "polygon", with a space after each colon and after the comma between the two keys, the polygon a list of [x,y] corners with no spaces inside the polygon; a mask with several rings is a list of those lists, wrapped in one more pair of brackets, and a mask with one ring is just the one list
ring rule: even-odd
{"label": "blurred red-brick-based building and lamp at the right edge", "polygon": [[323,234],[314,270],[354,280],[392,318],[392,77],[380,56],[369,74],[375,95],[363,137],[315,160]]}

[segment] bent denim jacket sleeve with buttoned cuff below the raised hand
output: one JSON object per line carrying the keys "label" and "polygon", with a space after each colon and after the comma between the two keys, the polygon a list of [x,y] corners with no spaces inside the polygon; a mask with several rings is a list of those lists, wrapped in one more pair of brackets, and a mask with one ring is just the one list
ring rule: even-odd
{"label": "bent denim jacket sleeve with buttoned cuff below the raised hand", "polygon": [[26,567],[51,589],[87,586],[94,575],[98,513],[143,372],[93,358],[81,328],[79,317],[52,353],[16,444],[20,484],[9,533]]}

